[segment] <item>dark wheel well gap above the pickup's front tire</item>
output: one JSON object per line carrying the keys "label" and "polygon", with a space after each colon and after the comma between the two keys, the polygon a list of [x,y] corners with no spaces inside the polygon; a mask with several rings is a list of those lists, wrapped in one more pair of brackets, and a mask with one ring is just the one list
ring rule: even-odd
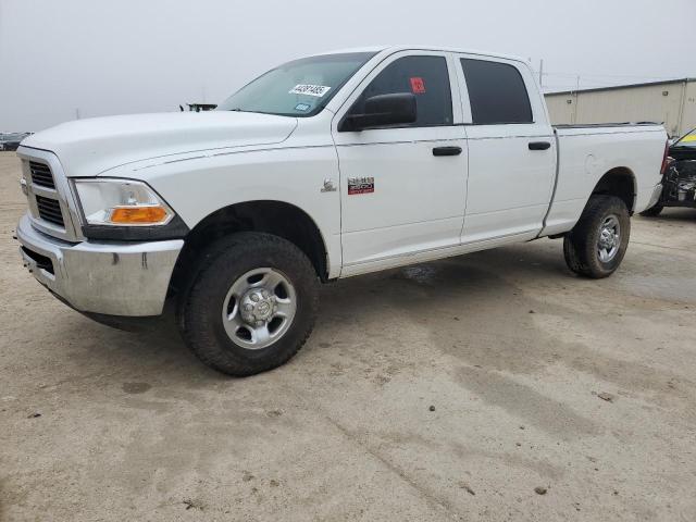
{"label": "dark wheel well gap above the pickup's front tire", "polygon": [[223,207],[202,219],[185,237],[170,288],[185,289],[196,273],[199,252],[236,232],[263,232],[297,246],[309,258],[321,281],[328,277],[328,251],[316,222],[299,207],[278,200],[244,201]]}

